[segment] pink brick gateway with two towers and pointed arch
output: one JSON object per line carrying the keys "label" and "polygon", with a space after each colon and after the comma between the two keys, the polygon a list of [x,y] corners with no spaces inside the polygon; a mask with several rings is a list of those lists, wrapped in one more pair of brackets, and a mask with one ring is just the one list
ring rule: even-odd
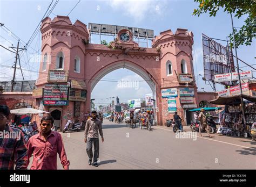
{"label": "pink brick gateway with two towers and pointed arch", "polygon": [[[91,92],[95,85],[100,78],[119,68],[130,69],[144,80],[152,80],[147,82],[153,97],[156,98],[157,125],[165,125],[166,119],[173,117],[175,105],[176,111],[183,119],[190,115],[188,110],[198,106],[196,82],[193,81],[191,31],[178,28],[175,33],[171,30],[160,32],[152,40],[152,48],[139,47],[132,40],[132,34],[129,40],[124,41],[121,35],[129,34],[128,30],[120,30],[111,47],[90,44],[89,29],[86,25],[79,20],[72,24],[69,17],[64,16],[57,16],[53,20],[47,17],[42,20],[41,32],[42,61],[36,84],[37,90],[45,88],[46,84],[61,83],[68,84],[70,89],[78,93],[86,92],[84,100],[79,98],[68,100],[64,102],[65,105],[44,105],[44,110],[52,112],[53,116],[60,115],[56,123],[59,123],[61,128],[68,119],[84,120],[86,114],[91,111]],[[58,71],[52,81],[49,80],[49,72],[52,71],[54,74],[53,70]],[[58,80],[58,72],[63,71],[66,77],[60,77]],[[55,95],[55,88],[52,88],[52,94]],[[183,99],[180,100],[180,97]],[[187,101],[184,97],[188,97]],[[200,100],[204,100],[203,97],[204,94]],[[36,98],[36,107],[39,107],[43,100],[41,92],[41,97]],[[76,111],[78,108],[75,107],[78,107],[79,111]],[[185,124],[186,120],[183,125]]]}

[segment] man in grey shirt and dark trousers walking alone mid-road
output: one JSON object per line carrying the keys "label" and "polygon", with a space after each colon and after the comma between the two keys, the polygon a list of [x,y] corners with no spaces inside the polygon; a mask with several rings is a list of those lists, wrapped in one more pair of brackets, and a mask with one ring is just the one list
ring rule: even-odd
{"label": "man in grey shirt and dark trousers walking alone mid-road", "polygon": [[93,157],[93,166],[98,167],[98,157],[99,157],[99,134],[102,136],[102,142],[104,141],[103,132],[102,132],[102,122],[97,118],[97,112],[92,111],[92,118],[88,119],[85,124],[84,131],[84,142],[87,143],[86,152],[89,157],[89,165],[92,163],[92,143],[94,145],[94,157]]}

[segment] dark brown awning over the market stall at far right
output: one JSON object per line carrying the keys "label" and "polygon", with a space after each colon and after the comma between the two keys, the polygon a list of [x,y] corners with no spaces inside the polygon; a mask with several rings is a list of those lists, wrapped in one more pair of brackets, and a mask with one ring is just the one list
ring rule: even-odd
{"label": "dark brown awning over the market stall at far right", "polygon": [[250,102],[253,102],[253,103],[256,102],[256,97],[247,96],[247,95],[238,95],[238,96],[219,97],[217,99],[210,100],[209,103],[216,104],[216,105],[226,105],[234,102],[235,100],[240,99],[241,97],[246,100],[249,100]]}

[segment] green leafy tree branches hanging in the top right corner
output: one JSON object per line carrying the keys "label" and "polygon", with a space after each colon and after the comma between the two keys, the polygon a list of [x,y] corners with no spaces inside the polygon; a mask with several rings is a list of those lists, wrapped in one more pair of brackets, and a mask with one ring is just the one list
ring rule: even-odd
{"label": "green leafy tree branches hanging in the top right corner", "polygon": [[[199,8],[194,9],[193,15],[200,16],[201,13],[209,12],[210,16],[215,16],[219,8],[224,8],[224,12],[235,13],[235,17],[247,16],[244,25],[237,30],[234,28],[235,44],[251,45],[256,33],[256,1],[255,0],[194,0],[199,3]],[[228,37],[231,39],[233,48],[233,33]]]}

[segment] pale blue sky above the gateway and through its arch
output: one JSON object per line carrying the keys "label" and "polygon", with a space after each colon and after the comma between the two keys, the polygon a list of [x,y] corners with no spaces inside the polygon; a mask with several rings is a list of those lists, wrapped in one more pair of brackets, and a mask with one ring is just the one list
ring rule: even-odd
{"label": "pale blue sky above the gateway and through its arch", "polygon": [[[51,1],[3,1],[0,0],[0,22],[4,23],[7,28],[14,32],[19,38],[25,42],[29,40],[32,32],[42,19],[44,12],[48,8]],[[59,0],[56,8],[49,17],[55,15],[66,16],[78,1]],[[69,17],[72,23],[79,19],[86,25],[90,23],[102,23],[112,25],[133,26],[140,28],[148,28],[154,30],[154,35],[159,32],[171,29],[173,32],[177,28],[187,28],[194,34],[193,57],[194,70],[197,76],[197,84],[199,90],[204,88],[206,91],[212,91],[209,85],[201,80],[203,75],[203,51],[201,42],[201,33],[212,38],[226,39],[231,32],[231,18],[226,12],[220,9],[215,17],[210,17],[208,13],[200,17],[192,16],[192,12],[198,6],[192,0],[171,0],[171,1],[80,1],[77,7],[70,13]],[[55,14],[55,15],[54,15]],[[241,27],[245,17],[240,19],[234,18],[234,26]],[[7,32],[0,29],[0,43],[8,47],[11,44],[17,45],[17,40],[8,35]],[[103,38],[104,39],[104,38]],[[105,38],[111,41],[112,38]],[[8,40],[8,41],[6,41]],[[92,42],[99,43],[98,36],[92,37]],[[220,42],[222,43],[222,42]],[[225,45],[225,42],[222,43]],[[33,40],[31,47],[38,51],[41,47],[41,35],[37,35]],[[255,39],[251,46],[240,46],[238,56],[249,64],[255,64],[254,56],[256,56]],[[38,71],[38,61],[36,54],[31,48],[22,56],[22,68],[24,69],[25,80],[35,80]],[[12,66],[14,64],[14,54],[0,49],[0,64]],[[32,54],[35,53],[35,54]],[[27,56],[28,55],[28,56]],[[28,60],[30,61],[28,62]],[[245,66],[245,64],[240,64]],[[254,66],[256,67],[256,66]],[[9,81],[13,74],[13,69],[0,67],[0,81]],[[28,69],[25,70],[25,69]],[[243,70],[249,70],[245,67]],[[29,71],[33,70],[33,71]],[[255,74],[255,72],[254,72]],[[22,76],[17,70],[17,80],[21,80]],[[106,78],[113,79],[129,79],[142,80],[141,77],[127,69],[119,69],[112,71],[106,75]],[[103,90],[109,90],[106,96],[102,96]],[[218,85],[217,89],[223,89]],[[118,93],[117,93],[118,92]],[[96,98],[96,103],[107,103],[106,98],[119,96],[121,102],[127,99],[144,98],[146,93],[150,93],[150,87],[145,82],[139,82],[139,89],[126,88],[117,90],[117,82],[100,81],[92,92],[92,97]]]}

